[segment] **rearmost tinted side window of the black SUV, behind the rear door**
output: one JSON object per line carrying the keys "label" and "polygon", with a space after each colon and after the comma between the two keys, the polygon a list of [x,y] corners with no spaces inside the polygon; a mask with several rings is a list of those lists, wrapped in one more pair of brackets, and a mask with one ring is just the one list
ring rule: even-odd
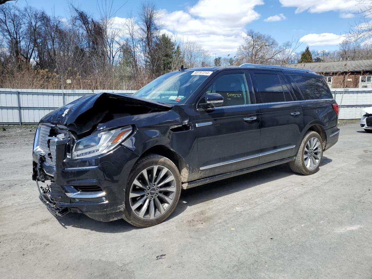
{"label": "rearmost tinted side window of the black SUV, behind the rear door", "polygon": [[292,76],[304,95],[305,100],[333,99],[328,85],[323,78]]}

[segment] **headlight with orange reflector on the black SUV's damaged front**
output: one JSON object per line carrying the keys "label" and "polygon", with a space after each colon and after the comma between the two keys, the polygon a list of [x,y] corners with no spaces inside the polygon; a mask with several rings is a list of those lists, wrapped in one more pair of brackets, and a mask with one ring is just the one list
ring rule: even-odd
{"label": "headlight with orange reflector on the black SUV's damaged front", "polygon": [[78,140],[73,148],[73,159],[101,155],[113,150],[132,133],[132,127],[100,132]]}

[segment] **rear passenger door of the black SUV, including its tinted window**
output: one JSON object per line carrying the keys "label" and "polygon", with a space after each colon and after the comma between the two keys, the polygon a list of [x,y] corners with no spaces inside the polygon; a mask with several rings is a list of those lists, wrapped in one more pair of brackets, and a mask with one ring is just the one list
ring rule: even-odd
{"label": "rear passenger door of the black SUV, including its tinted window", "polygon": [[301,104],[289,90],[281,71],[251,71],[260,111],[259,164],[296,154],[304,128]]}

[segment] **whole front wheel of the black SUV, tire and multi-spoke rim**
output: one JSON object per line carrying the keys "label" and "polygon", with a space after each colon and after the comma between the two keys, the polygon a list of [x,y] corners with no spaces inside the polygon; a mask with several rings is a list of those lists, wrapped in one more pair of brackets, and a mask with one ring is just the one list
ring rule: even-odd
{"label": "whole front wheel of the black SUV, tire and multi-spoke rim", "polygon": [[174,211],[180,194],[180,173],[174,163],[157,154],[144,156],[129,175],[124,220],[142,228],[157,225]]}

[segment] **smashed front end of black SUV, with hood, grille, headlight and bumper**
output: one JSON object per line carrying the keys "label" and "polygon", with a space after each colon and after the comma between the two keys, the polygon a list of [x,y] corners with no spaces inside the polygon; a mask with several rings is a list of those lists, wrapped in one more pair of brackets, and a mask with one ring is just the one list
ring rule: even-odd
{"label": "smashed front end of black SUV, with hood, grille, headlight and bumper", "polygon": [[[32,179],[41,201],[55,216],[79,212],[99,221],[122,218],[122,184],[138,159],[122,145],[136,132],[134,117],[172,107],[99,93],[46,115],[36,129],[32,154]],[[106,125],[117,119],[118,125]]]}

